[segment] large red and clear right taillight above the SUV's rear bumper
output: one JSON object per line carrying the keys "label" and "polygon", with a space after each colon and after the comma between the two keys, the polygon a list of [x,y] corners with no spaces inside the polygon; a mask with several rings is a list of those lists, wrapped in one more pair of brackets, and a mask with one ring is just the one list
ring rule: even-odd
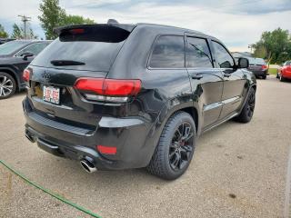
{"label": "large red and clear right taillight above the SUV's rear bumper", "polygon": [[75,82],[75,88],[81,91],[87,100],[125,103],[130,96],[140,92],[141,81],[79,78]]}

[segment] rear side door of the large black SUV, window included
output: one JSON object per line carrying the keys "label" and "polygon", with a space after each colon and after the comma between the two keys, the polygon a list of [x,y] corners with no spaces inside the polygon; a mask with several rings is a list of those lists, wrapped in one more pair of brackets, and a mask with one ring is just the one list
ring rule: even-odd
{"label": "rear side door of the large black SUV, window included", "polygon": [[214,67],[209,42],[205,37],[186,35],[186,68],[194,98],[199,99],[203,127],[216,123],[222,108],[223,74]]}

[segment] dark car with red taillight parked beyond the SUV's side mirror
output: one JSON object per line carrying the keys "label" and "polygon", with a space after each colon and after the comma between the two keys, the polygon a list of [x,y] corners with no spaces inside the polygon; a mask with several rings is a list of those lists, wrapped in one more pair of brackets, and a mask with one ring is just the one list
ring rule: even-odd
{"label": "dark car with red taillight parked beyond the SUV's side mirror", "polygon": [[257,57],[246,57],[249,62],[249,67],[247,68],[249,71],[253,72],[256,75],[256,78],[261,77],[262,79],[266,79],[268,67],[263,58]]}

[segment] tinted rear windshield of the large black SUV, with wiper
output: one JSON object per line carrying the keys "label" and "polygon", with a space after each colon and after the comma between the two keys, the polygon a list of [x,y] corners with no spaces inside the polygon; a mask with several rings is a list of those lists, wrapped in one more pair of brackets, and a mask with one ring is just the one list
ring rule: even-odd
{"label": "tinted rear windshield of the large black SUV, with wiper", "polygon": [[32,65],[108,72],[129,34],[114,26],[65,30],[43,53],[36,56]]}

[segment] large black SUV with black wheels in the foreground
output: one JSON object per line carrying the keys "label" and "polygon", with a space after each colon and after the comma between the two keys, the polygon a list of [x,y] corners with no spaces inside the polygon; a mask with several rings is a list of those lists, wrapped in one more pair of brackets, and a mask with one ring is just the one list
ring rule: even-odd
{"label": "large black SUV with black wheels in the foreground", "polygon": [[25,135],[87,172],[186,171],[198,135],[251,120],[256,77],[215,37],[165,25],[77,25],[26,68]]}

